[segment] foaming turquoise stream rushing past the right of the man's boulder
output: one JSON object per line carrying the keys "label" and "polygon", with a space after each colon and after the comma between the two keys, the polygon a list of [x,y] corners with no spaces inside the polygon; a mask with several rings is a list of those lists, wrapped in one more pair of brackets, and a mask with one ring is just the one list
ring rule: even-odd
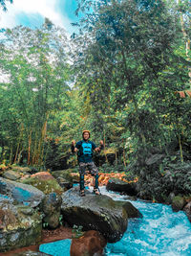
{"label": "foaming turquoise stream rushing past the right of the man's boulder", "polygon": [[[102,194],[117,200],[124,196]],[[107,244],[108,256],[191,256],[191,223],[180,211],[174,213],[171,206],[145,201],[131,201],[142,213],[142,219],[131,219],[122,239],[116,244]]]}

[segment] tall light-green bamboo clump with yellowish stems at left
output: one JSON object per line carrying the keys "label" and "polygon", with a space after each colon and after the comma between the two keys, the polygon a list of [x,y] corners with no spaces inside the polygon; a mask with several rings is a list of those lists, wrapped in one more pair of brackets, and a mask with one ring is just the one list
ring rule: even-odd
{"label": "tall light-green bamboo clump with yellowish stems at left", "polygon": [[9,79],[0,84],[0,138],[10,162],[23,154],[28,164],[44,164],[46,138],[59,130],[56,113],[70,91],[66,47],[63,31],[48,19],[41,29],[16,27],[1,40],[0,67]]}

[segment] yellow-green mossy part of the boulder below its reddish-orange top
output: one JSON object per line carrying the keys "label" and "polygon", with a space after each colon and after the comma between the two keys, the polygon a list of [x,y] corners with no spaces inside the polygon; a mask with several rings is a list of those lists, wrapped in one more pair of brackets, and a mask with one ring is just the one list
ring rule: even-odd
{"label": "yellow-green mossy part of the boulder below its reddish-orange top", "polygon": [[33,176],[24,179],[22,183],[32,185],[33,187],[39,189],[46,195],[53,192],[55,192],[58,195],[61,195],[63,193],[63,189],[60,187],[60,185],[54,178],[43,180]]}

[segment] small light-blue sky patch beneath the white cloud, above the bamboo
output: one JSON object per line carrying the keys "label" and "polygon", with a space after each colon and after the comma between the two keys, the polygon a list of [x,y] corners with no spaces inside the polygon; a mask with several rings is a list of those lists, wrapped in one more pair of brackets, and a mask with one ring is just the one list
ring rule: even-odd
{"label": "small light-blue sky patch beneath the white cloud, above the bamboo", "polygon": [[29,27],[31,29],[39,28],[44,23],[44,17],[39,13],[26,15],[25,12],[20,12],[15,16],[16,24]]}

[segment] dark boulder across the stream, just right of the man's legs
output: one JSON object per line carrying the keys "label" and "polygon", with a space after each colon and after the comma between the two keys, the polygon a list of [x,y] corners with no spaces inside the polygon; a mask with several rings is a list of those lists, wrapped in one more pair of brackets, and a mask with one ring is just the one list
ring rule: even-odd
{"label": "dark boulder across the stream, just right of the man's legs", "polygon": [[106,189],[111,191],[124,192],[130,196],[136,196],[138,194],[136,182],[128,183],[119,178],[110,178]]}

